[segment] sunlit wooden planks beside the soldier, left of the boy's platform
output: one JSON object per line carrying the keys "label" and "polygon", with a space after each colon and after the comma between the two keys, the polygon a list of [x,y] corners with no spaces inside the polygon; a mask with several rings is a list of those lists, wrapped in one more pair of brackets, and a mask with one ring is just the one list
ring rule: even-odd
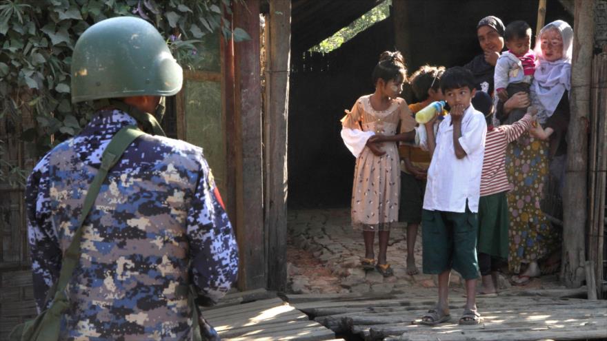
{"label": "sunlit wooden planks beside the soldier, left of the boy's platform", "polygon": [[309,320],[305,313],[280,298],[267,298],[275,295],[257,291],[257,298],[266,298],[242,303],[250,296],[251,292],[230,294],[223,304],[203,310],[221,340],[335,340],[333,331]]}

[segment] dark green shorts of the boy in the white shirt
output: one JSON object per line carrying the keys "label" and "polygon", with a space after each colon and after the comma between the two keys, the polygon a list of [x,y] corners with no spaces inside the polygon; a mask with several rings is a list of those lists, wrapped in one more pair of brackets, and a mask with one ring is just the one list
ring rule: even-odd
{"label": "dark green shorts of the boy in the white shirt", "polygon": [[479,277],[477,260],[477,214],[421,212],[421,242],[424,273],[439,274],[453,269],[466,280]]}

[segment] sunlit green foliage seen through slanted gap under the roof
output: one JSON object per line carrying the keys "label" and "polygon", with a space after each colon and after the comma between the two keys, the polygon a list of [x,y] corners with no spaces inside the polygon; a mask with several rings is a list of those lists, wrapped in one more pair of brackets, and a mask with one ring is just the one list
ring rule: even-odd
{"label": "sunlit green foliage seen through slanted gap under the roof", "polygon": [[370,28],[373,24],[390,17],[391,5],[392,0],[384,0],[384,2],[375,6],[375,8],[372,8],[372,10],[369,12],[363,14],[359,19],[352,21],[350,25],[337,31],[337,33],[333,34],[331,37],[328,37],[324,41],[321,41],[318,45],[310,48],[310,51],[328,53],[339,48],[341,44],[346,43],[346,41],[352,39],[355,35],[363,32],[367,28]]}

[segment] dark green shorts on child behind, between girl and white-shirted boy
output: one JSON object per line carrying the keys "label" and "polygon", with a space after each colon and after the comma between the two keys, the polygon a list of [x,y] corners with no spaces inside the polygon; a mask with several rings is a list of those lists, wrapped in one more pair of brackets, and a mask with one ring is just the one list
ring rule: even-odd
{"label": "dark green shorts on child behind, between girl and white-shirted boy", "polygon": [[401,201],[399,205],[399,221],[410,224],[421,222],[421,207],[424,207],[424,192],[426,180],[419,180],[401,172]]}

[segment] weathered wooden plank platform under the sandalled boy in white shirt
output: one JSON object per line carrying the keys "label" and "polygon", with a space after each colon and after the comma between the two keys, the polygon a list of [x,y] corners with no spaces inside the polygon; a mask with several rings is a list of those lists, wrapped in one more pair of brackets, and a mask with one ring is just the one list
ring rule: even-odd
{"label": "weathered wooden plank platform under the sandalled boy in white shirt", "polygon": [[[548,293],[550,294],[550,293]],[[607,300],[541,296],[477,298],[481,324],[457,324],[465,298],[450,298],[450,322],[428,327],[419,322],[435,296],[406,294],[365,297],[288,295],[297,309],[333,331],[364,340],[604,340]],[[416,321],[417,320],[417,321]]]}

